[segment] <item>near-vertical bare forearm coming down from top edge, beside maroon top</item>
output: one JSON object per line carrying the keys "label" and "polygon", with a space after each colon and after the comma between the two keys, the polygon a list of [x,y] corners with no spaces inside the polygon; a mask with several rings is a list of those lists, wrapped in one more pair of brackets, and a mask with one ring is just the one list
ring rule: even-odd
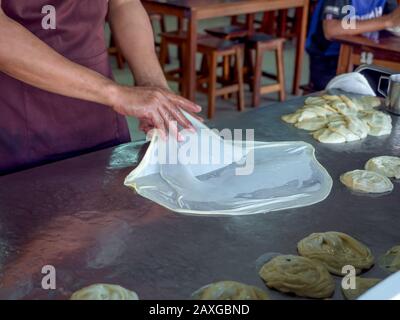
{"label": "near-vertical bare forearm coming down from top edge, beside maroon top", "polygon": [[138,86],[168,88],[149,16],[139,0],[111,0],[110,24]]}

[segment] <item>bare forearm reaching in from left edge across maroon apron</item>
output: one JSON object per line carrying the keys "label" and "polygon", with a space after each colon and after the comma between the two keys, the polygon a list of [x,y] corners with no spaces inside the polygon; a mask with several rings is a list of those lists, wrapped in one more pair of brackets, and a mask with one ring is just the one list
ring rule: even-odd
{"label": "bare forearm reaching in from left edge across maroon apron", "polygon": [[1,9],[0,71],[46,91],[112,104],[111,80],[64,58]]}

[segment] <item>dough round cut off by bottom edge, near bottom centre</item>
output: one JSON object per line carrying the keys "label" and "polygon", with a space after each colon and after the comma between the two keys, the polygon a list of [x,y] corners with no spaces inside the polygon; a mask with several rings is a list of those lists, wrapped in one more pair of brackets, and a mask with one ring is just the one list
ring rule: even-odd
{"label": "dough round cut off by bottom edge, near bottom centre", "polygon": [[194,300],[269,300],[261,289],[235,281],[220,281],[200,288]]}

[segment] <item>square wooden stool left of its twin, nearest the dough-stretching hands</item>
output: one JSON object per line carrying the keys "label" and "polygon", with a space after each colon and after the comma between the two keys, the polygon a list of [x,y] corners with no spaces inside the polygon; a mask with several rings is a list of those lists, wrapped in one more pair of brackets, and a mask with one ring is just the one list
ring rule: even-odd
{"label": "square wooden stool left of its twin, nearest the dough-stretching hands", "polygon": [[[208,94],[208,118],[212,118],[215,113],[215,102],[218,96],[224,96],[231,93],[237,94],[237,108],[244,110],[244,88],[243,88],[243,68],[242,51],[243,45],[229,40],[218,39],[214,37],[203,38],[198,41],[198,52],[206,58],[208,68],[203,65],[202,70],[207,70],[207,74],[201,74],[198,79],[198,90]],[[225,79],[218,81],[217,69],[218,58],[234,58],[234,79],[227,82]],[[222,87],[217,88],[218,83]],[[206,88],[203,86],[206,84]]]}

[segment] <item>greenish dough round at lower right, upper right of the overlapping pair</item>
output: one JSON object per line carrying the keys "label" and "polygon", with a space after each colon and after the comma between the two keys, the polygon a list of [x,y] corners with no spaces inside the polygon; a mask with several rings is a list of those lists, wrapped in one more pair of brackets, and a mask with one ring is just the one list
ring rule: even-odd
{"label": "greenish dough round at lower right, upper right of the overlapping pair", "polygon": [[374,264],[369,248],[341,232],[313,233],[301,240],[297,249],[301,256],[319,261],[336,275],[343,275],[346,265],[353,266],[359,274]]}

